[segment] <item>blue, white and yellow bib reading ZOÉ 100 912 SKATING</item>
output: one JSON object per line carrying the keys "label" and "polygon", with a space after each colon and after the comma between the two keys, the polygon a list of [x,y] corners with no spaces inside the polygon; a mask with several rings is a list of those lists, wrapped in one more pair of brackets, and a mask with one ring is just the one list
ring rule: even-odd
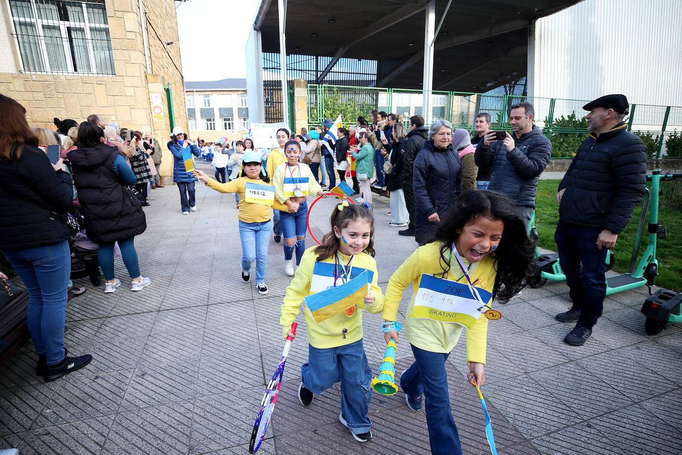
{"label": "blue, white and yellow bib reading ZO\u00c9 100 912 SKATING", "polygon": [[[476,290],[481,300],[490,304],[492,293],[481,288]],[[474,297],[466,284],[423,274],[415,296],[412,317],[456,323],[471,330],[487,309]]]}

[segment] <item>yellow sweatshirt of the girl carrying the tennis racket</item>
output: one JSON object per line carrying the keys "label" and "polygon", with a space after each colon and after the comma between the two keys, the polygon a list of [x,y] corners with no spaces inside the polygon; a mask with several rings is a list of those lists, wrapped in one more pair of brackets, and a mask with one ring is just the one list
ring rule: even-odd
{"label": "yellow sweatshirt of the girl carrying the tennis racket", "polygon": [[[301,304],[303,304],[303,298],[320,291],[325,291],[327,287],[333,284],[333,256],[324,261],[317,262],[317,255],[314,253],[314,249],[315,247],[308,248],[306,252],[303,253],[301,265],[299,265],[299,268],[296,270],[296,275],[293,280],[291,280],[291,284],[286,288],[286,295],[284,295],[284,303],[282,304],[282,315],[280,317],[280,325],[282,325],[284,336],[286,336],[286,332],[291,328],[291,323],[293,323],[299,314]],[[351,259],[351,256],[346,256],[344,254],[341,254],[340,256],[344,261],[344,264],[348,263]],[[353,259],[351,278],[361,274],[364,270],[368,271],[372,279],[372,290],[370,293],[374,295],[374,304],[366,307],[363,299],[360,299],[356,304],[356,310],[352,316],[346,316],[346,314],[342,312],[321,323],[315,322],[312,318],[312,313],[308,308],[303,310],[306,315],[306,323],[308,324],[308,342],[310,342],[313,347],[327,349],[344,346],[361,340],[362,310],[366,309],[371,313],[379,313],[383,309],[384,297],[381,293],[381,288],[376,284],[378,281],[376,261],[374,261],[372,256],[363,252]],[[344,325],[348,330],[345,339],[341,332]]]}

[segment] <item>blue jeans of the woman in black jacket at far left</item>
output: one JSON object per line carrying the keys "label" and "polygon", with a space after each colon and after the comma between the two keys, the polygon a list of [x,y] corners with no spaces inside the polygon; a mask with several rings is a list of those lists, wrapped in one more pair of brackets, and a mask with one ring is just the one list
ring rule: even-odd
{"label": "blue jeans of the woman in black jacket at far left", "polygon": [[3,252],[29,290],[26,323],[35,353],[46,355],[48,365],[59,364],[64,359],[64,319],[71,274],[69,242]]}

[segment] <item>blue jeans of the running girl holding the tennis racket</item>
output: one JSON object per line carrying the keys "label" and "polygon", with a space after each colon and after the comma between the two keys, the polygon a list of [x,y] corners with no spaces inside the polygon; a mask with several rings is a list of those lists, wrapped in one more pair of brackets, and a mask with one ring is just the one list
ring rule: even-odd
{"label": "blue jeans of the running girl holding the tennis racket", "polygon": [[372,368],[362,340],[345,346],[317,349],[308,344],[308,362],[301,366],[306,389],[321,394],[341,381],[341,412],[356,435],[372,426],[367,412],[372,399]]}

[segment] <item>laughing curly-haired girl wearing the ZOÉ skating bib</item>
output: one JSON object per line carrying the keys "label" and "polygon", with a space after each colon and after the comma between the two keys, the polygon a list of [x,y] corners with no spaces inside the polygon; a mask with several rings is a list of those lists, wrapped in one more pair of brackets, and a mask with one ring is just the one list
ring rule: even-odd
{"label": "laughing curly-haired girl wearing the ZO\u00c9 skating bib", "polygon": [[[426,397],[432,454],[462,454],[445,361],[466,327],[466,379],[484,383],[486,318],[499,319],[499,312],[485,310],[493,298],[505,304],[522,289],[533,252],[525,223],[506,196],[470,190],[447,211],[432,243],[417,248],[391,276],[384,327],[395,326],[404,289],[412,284],[414,291],[404,327],[415,362],[402,373],[400,387],[412,411]],[[395,330],[384,332],[386,342],[398,342]]]}

